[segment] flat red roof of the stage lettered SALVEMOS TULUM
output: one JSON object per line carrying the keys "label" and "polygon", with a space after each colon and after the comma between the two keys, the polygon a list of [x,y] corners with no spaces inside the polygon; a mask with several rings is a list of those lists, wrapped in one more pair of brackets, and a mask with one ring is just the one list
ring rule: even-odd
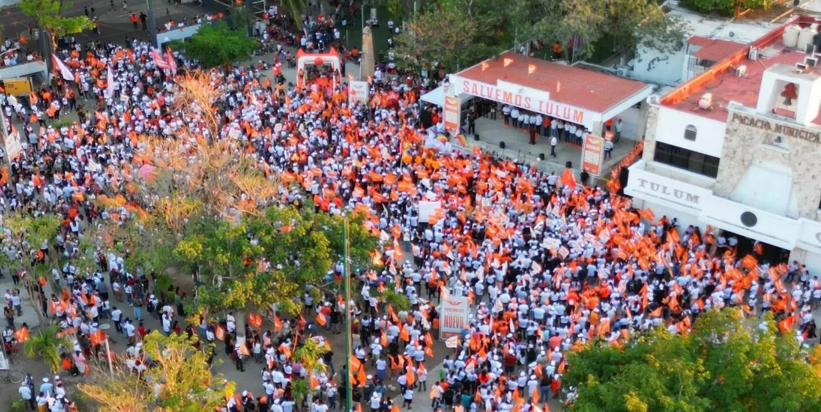
{"label": "flat red roof of the stage lettered SALVEMOS TULUM", "polygon": [[[511,59],[507,67],[504,66],[505,59]],[[484,70],[484,64],[478,64],[461,71],[458,76],[488,85],[496,85],[496,80],[504,80],[547,91],[553,101],[594,112],[607,112],[608,109],[647,87],[639,81],[512,52],[503,53],[485,63],[487,66]],[[535,71],[529,75],[530,65],[534,65]]]}

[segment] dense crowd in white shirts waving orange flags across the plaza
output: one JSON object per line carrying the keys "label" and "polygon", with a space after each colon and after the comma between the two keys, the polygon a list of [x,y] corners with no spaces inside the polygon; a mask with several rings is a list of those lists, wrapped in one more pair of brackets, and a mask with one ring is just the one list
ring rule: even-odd
{"label": "dense crowd in white shirts waving orange flags across the plaza", "polygon": [[[313,374],[319,396],[311,410],[344,408],[346,385],[354,387],[357,410],[410,409],[419,391],[428,392],[433,409],[511,410],[562,395],[568,351],[598,340],[621,346],[651,327],[686,333],[709,309],[770,310],[782,332],[795,329],[804,342],[816,338],[810,313],[821,284],[797,263],[768,262],[760,245],[738,256],[735,245],[717,244],[718,231],[679,227],[675,218],[631,208],[630,199],[611,190],[576,184],[571,172],[539,172],[478,151],[429,149],[420,115],[430,109],[417,103],[418,76],[397,80],[385,70],[369,103],[349,104],[346,85],[286,89],[270,87],[250,67],[215,69],[212,79],[224,94],[222,128],[208,130],[175,106],[177,73],[158,67],[147,43],[65,46],[57,57],[71,76],[60,72],[27,99],[0,98],[7,125],[22,142],[2,173],[0,208],[63,219],[44,245],[24,245],[6,231],[3,246],[10,259],[43,259],[51,247],[70,259],[53,273],[62,294],[41,297],[72,338],[62,356],[66,373],[88,373],[89,359],[112,356],[101,343],[114,332],[128,341],[126,367],[145,373],[152,362],[140,338],[149,332],[144,316],[151,316],[165,334],[221,341],[238,370],[261,369],[261,391],[243,388],[225,410],[292,412],[301,405],[291,382],[308,371],[291,352],[302,336],[322,340],[339,332],[350,310],[358,344],[337,359],[350,357],[351,369],[333,369],[333,351],[323,357],[329,368]],[[179,71],[198,67],[179,53],[168,59]],[[502,115],[507,121],[506,108]],[[273,315],[265,332],[261,319],[252,319],[239,340],[233,314],[218,324],[181,323],[185,291],[156,290],[155,274],[127,268],[122,255],[99,250],[99,268],[71,263],[84,227],[139,213],[124,190],[140,168],[135,136],[172,139],[181,132],[215,133],[206,137],[253,149],[261,167],[280,176],[284,203],[310,197],[326,213],[365,213],[366,227],[386,247],[381,266],[354,275],[363,299],[346,303],[328,293],[314,301],[306,294],[304,316]],[[97,201],[117,195],[124,195],[119,204]],[[439,206],[423,212],[420,201]],[[342,265],[330,275],[341,277]],[[380,302],[374,291],[382,288],[406,295],[411,308],[395,311]],[[471,315],[456,355],[429,377],[436,366],[426,363],[439,326],[436,302],[445,294],[467,297]],[[14,321],[17,295],[6,296],[10,345],[21,327]],[[101,330],[103,319],[115,330]],[[21,396],[39,410],[70,410],[65,391],[57,391],[62,383],[47,383],[36,394],[24,382]],[[402,405],[388,393],[401,395]]]}

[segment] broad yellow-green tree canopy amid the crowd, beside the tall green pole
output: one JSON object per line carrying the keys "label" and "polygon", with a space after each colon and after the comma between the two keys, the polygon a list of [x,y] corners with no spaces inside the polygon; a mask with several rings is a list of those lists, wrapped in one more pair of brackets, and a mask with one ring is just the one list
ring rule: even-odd
{"label": "broad yellow-green tree canopy amid the crowd, beside the tall green pole", "polygon": [[[240,224],[201,217],[174,253],[204,274],[198,306],[241,311],[279,304],[293,314],[306,287],[333,282],[326,274],[342,260],[342,224],[342,217],[314,213],[310,205],[268,208],[261,216],[243,217]],[[361,217],[351,219],[347,235],[352,265],[368,264],[377,240],[365,231]],[[261,267],[259,259],[270,266]]]}

